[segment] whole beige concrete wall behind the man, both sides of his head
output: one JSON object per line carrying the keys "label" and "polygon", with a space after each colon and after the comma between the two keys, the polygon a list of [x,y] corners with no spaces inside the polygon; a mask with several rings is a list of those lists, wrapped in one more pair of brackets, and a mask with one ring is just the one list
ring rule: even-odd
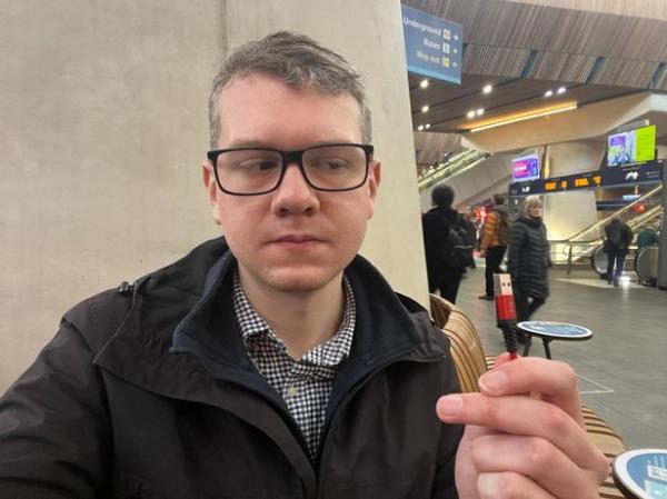
{"label": "whole beige concrete wall behind the man, both sides of his head", "polygon": [[0,392],[73,303],[218,236],[200,180],[227,47],[278,29],[367,77],[384,177],[364,253],[427,301],[398,0],[0,0]]}

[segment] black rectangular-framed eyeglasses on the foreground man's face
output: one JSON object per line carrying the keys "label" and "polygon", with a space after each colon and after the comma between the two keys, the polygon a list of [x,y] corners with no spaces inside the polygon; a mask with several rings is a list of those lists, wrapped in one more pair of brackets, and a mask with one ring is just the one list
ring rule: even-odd
{"label": "black rectangular-framed eyeglasses on the foreground man's face", "polygon": [[278,189],[296,163],[306,182],[320,191],[357,189],[368,178],[374,148],[367,143],[328,143],[298,151],[269,148],[218,149],[207,153],[221,191],[259,196]]}

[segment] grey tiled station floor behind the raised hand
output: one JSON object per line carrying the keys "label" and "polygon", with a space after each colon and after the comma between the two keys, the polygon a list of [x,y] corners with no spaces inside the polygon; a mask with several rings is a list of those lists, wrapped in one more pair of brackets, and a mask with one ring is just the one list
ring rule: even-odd
{"label": "grey tiled station floor behind the raised hand", "polygon": [[[551,296],[532,319],[590,328],[589,341],[554,341],[551,355],[580,375],[579,389],[630,448],[667,448],[667,291],[610,287],[593,271],[551,272]],[[600,286],[601,285],[601,286]],[[492,301],[479,300],[484,268],[461,282],[457,305],[472,319],[488,353],[502,351]],[[530,355],[544,357],[541,345]]]}

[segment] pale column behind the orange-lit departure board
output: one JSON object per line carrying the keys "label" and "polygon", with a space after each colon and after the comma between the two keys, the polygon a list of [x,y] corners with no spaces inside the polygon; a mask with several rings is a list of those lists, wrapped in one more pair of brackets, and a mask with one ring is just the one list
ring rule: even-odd
{"label": "pale column behind the orange-lit departure board", "polygon": [[[549,177],[597,170],[604,142],[565,142],[547,147]],[[567,239],[597,221],[595,192],[583,190],[544,197],[544,219],[549,239]],[[595,234],[590,234],[590,238]],[[587,237],[587,239],[589,239]]]}

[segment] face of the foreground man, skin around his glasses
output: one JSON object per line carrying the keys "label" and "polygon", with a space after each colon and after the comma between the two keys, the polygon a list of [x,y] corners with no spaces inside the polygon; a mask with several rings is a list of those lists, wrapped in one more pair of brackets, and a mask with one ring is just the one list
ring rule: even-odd
{"label": "face of the foreground man, skin around his glasses", "polygon": [[[219,149],[361,142],[359,106],[349,93],[297,90],[255,73],[233,79],[218,106]],[[205,163],[203,181],[213,218],[238,259],[241,281],[265,291],[315,291],[339,277],[361,246],[380,178],[374,160],[360,188],[322,192],[290,164],[273,192],[231,196],[220,191],[211,168]]]}

